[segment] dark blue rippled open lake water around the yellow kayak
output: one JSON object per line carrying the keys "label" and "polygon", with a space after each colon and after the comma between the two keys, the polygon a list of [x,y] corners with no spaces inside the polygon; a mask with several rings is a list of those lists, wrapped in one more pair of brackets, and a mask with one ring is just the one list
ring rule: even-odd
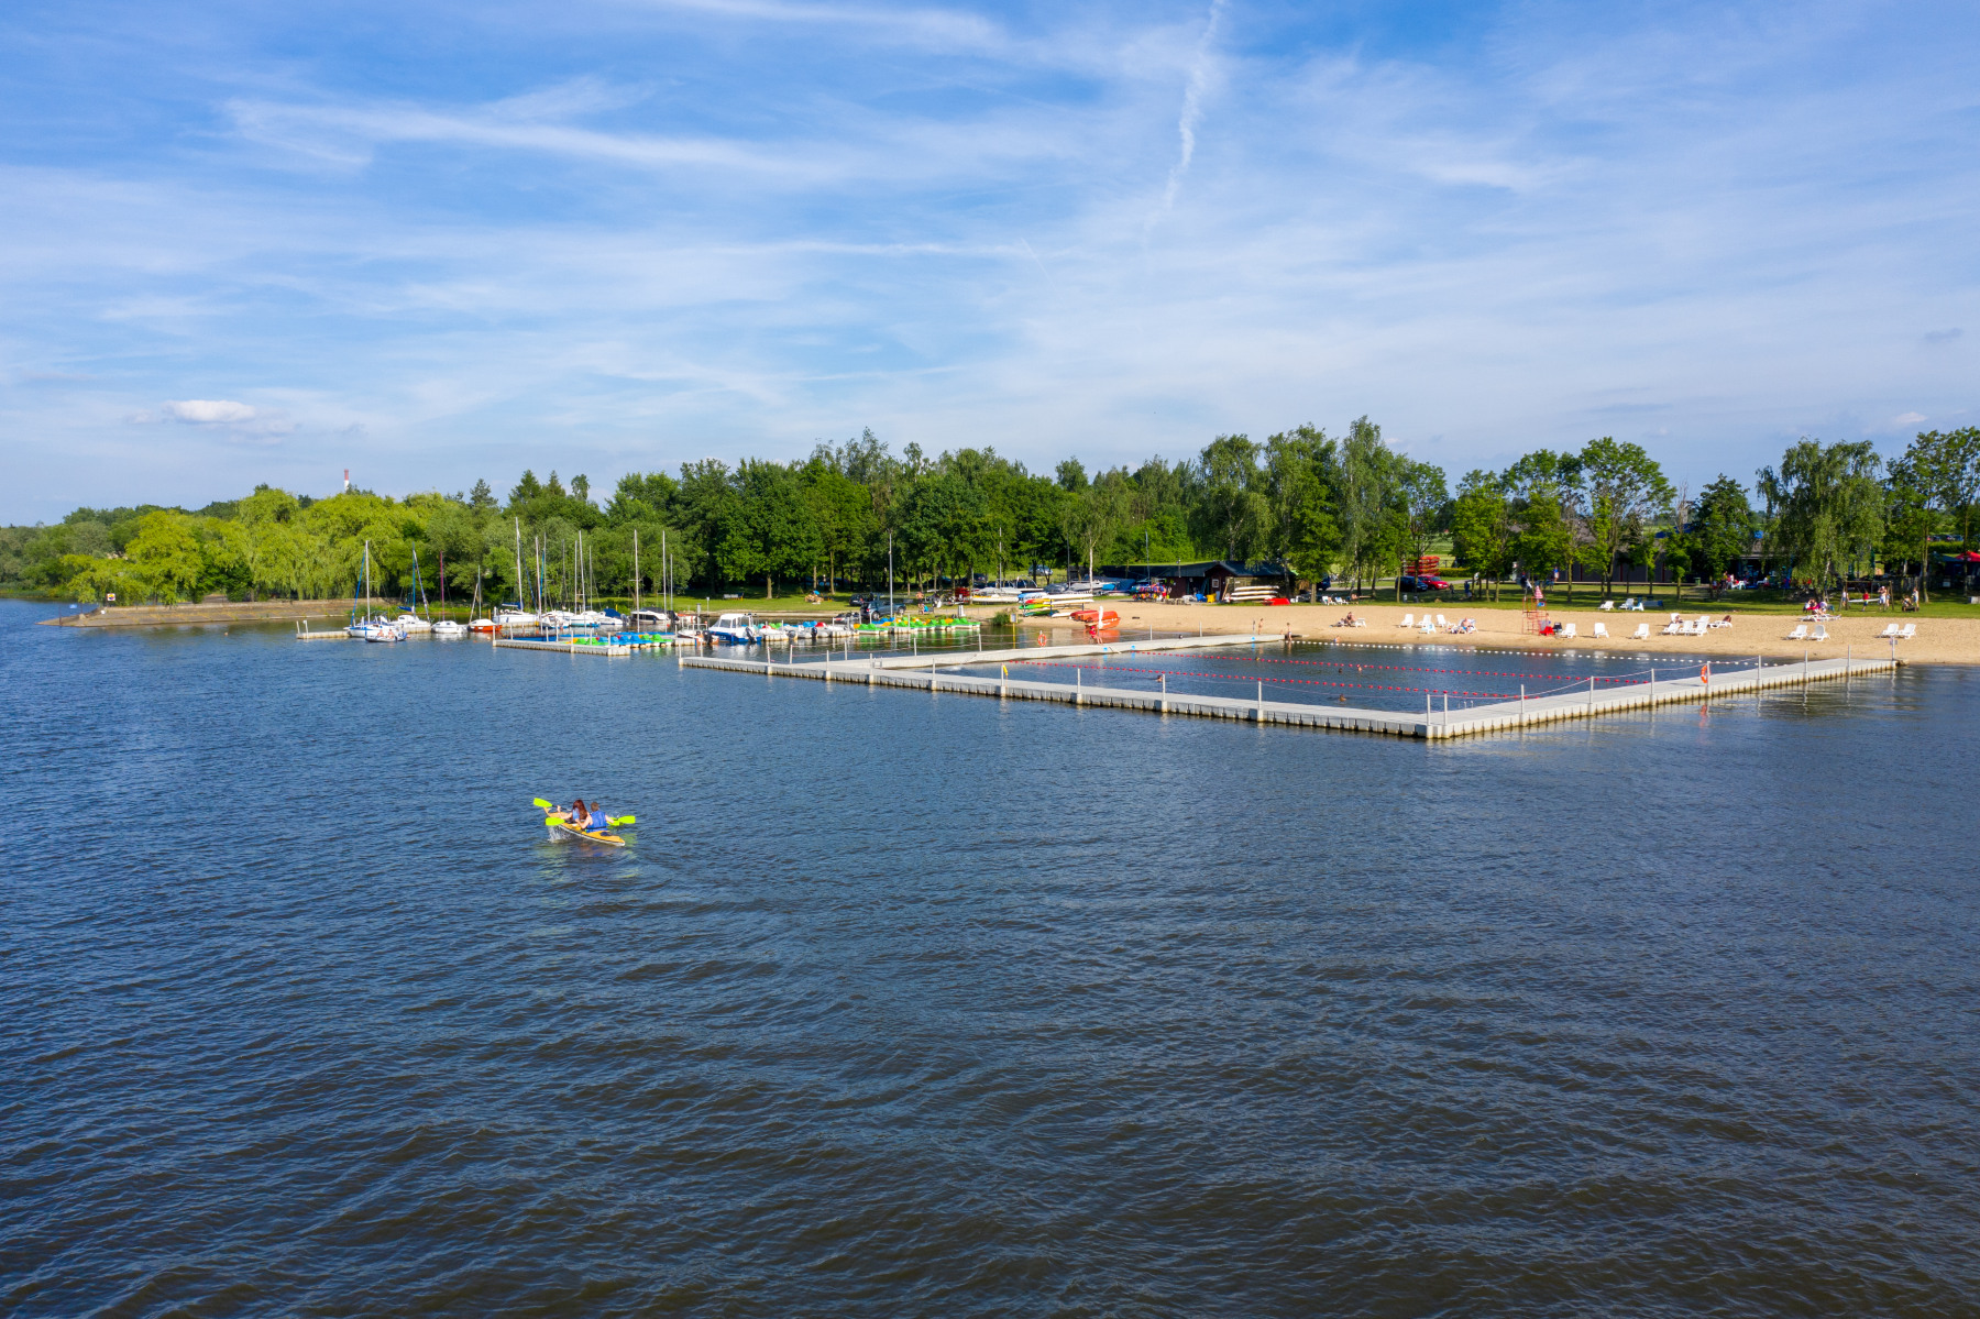
{"label": "dark blue rippled open lake water around the yellow kayak", "polygon": [[1980,673],[1422,745],[48,612],[8,1313],[1974,1313]]}

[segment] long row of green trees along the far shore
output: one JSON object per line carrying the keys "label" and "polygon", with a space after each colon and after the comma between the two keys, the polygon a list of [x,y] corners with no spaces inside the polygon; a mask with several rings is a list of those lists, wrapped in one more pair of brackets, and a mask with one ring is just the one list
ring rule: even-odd
{"label": "long row of green trees along the far shore", "polygon": [[[350,594],[370,543],[380,596],[416,584],[465,598],[531,598],[539,570],[568,598],[586,547],[594,592],[794,582],[1028,574],[1032,564],[1269,558],[1303,580],[1372,582],[1447,545],[1487,580],[1580,564],[1604,586],[1632,566],[1717,576],[1760,555],[1796,580],[1826,584],[1881,560],[1911,570],[1934,539],[1972,545],[1980,430],[1927,432],[1885,463],[1867,442],[1802,440],[1748,487],[1721,475],[1695,497],[1641,446],[1612,438],[1580,452],[1536,450],[1505,471],[1475,469],[1449,489],[1441,467],[1382,440],[1368,418],[1340,436],[1313,426],[1263,444],[1218,436],[1196,457],[1150,457],[1051,475],[992,450],[901,456],[865,432],[808,459],[705,459],[679,477],[630,473],[602,503],[574,475],[533,471],[497,499],[471,491],[331,499],[267,485],[198,511],[77,509],[53,527],[0,529],[0,582],[81,600],[194,600],[210,592]],[[517,582],[521,539],[523,582]],[[661,560],[665,545],[665,562]],[[539,568],[541,557],[541,568]],[[418,562],[418,582],[414,578]]]}

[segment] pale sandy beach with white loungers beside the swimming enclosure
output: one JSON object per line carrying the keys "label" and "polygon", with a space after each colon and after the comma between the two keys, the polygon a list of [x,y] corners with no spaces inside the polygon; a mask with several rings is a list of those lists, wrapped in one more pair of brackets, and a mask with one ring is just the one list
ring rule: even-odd
{"label": "pale sandy beach with white loungers beside the swimming enclosure", "polygon": [[[1204,632],[1269,632],[1285,634],[1297,632],[1309,642],[1315,640],[1354,640],[1354,642],[1384,642],[1394,646],[1477,646],[1477,648],[1519,648],[1519,650],[1602,650],[1602,652],[1641,652],[1647,656],[1671,654],[1671,656],[1766,656],[1770,660],[1800,660],[1804,652],[1833,660],[1839,658],[1845,648],[1859,656],[1891,656],[1891,644],[1877,640],[1877,634],[1885,630],[1891,622],[1917,622],[1919,636],[1909,642],[1897,644],[1897,658],[1909,660],[1913,663],[1980,663],[1980,620],[1974,618],[1915,618],[1911,614],[1891,612],[1869,612],[1869,614],[1849,614],[1839,620],[1830,620],[1830,640],[1828,642],[1790,642],[1788,634],[1794,626],[1802,622],[1800,618],[1788,618],[1782,614],[1740,614],[1731,610],[1732,626],[1715,628],[1705,636],[1657,636],[1669,620],[1671,610],[1659,612],[1630,612],[1630,614],[1604,614],[1598,610],[1548,610],[1548,618],[1554,622],[1576,624],[1576,638],[1558,636],[1531,636],[1523,630],[1525,618],[1519,610],[1507,608],[1487,608],[1465,612],[1463,604],[1441,604],[1432,606],[1432,614],[1443,614],[1445,620],[1457,622],[1459,618],[1471,618],[1477,624],[1477,632],[1465,636],[1451,636],[1437,632],[1426,636],[1418,630],[1404,630],[1404,614],[1414,614],[1422,618],[1422,608],[1412,608],[1408,604],[1356,604],[1352,608],[1354,618],[1366,618],[1366,628],[1336,628],[1335,622],[1346,616],[1350,610],[1344,606],[1327,604],[1281,604],[1277,608],[1236,608],[1228,604],[1140,604],[1133,600],[1121,600],[1113,604],[1121,614],[1123,632],[1133,628],[1154,628],[1156,632],[1188,632],[1202,628]],[[1691,604],[1685,608],[1685,618],[1697,618],[1705,608]],[[1713,618],[1725,618],[1727,608],[1713,612]],[[1610,638],[1592,638],[1594,624],[1606,624]],[[1651,636],[1647,642],[1632,642],[1630,634],[1637,624],[1647,622]],[[1026,620],[1026,626],[1055,626],[1069,628],[1077,626],[1065,618],[1051,620]]]}

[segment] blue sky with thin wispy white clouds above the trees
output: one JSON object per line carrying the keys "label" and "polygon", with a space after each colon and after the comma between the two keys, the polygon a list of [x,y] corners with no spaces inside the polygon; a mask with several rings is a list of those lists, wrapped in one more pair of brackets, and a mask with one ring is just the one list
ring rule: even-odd
{"label": "blue sky with thin wispy white clouds above the trees", "polygon": [[1980,422],[1980,12],[0,16],[6,521],[1368,414],[1451,477]]}

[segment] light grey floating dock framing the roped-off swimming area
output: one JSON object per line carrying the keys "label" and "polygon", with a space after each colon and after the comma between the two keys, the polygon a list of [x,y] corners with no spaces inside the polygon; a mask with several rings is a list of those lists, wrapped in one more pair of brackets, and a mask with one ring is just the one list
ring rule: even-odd
{"label": "light grey floating dock framing the roped-off swimming area", "polygon": [[[1172,691],[1150,691],[1146,687],[1089,687],[1083,681],[1041,683],[1014,679],[1006,673],[998,677],[978,677],[964,673],[942,673],[944,667],[976,667],[984,663],[1006,663],[1018,660],[1051,660],[1069,656],[1125,656],[1137,652],[1186,652],[1224,650],[1234,646],[1277,644],[1269,636],[1214,636],[1214,638],[1162,638],[1144,642],[1113,642],[1091,646],[1026,646],[1022,650],[994,652],[942,652],[935,656],[883,656],[851,660],[804,660],[776,663],[772,660],[717,660],[711,656],[681,656],[683,667],[721,669],[754,677],[806,677],[828,683],[859,683],[865,687],[907,687],[929,695],[978,695],[1004,701],[1055,701],[1059,705],[1103,705],[1111,709],[1135,709],[1152,715],[1194,715],[1200,719],[1241,719],[1247,723],[1277,723],[1301,729],[1329,729],[1338,733],[1380,733],[1388,737],[1414,737],[1422,741],[1441,741],[1447,737],[1475,737],[1481,733],[1501,733],[1525,729],[1529,725],[1558,723],[1562,719],[1594,719],[1630,709],[1653,705],[1701,705],[1723,701],[1734,695],[1750,695],[1780,687],[1806,687],[1818,681],[1849,681],[1869,673],[1889,673],[1895,660],[1804,660],[1800,663],[1778,663],[1750,669],[1719,671],[1707,677],[1707,669],[1691,671],[1689,677],[1665,677],[1655,681],[1630,683],[1598,689],[1590,679],[1586,687],[1552,689],[1546,695],[1521,697],[1517,701],[1493,701],[1471,705],[1469,709],[1437,709],[1426,697],[1426,709],[1388,711],[1356,709],[1348,705],[1313,705],[1305,701],[1267,701],[1263,685],[1257,699],[1178,695]],[[1673,665],[1675,667],[1675,665]],[[1689,665],[1687,665],[1689,669]]]}

